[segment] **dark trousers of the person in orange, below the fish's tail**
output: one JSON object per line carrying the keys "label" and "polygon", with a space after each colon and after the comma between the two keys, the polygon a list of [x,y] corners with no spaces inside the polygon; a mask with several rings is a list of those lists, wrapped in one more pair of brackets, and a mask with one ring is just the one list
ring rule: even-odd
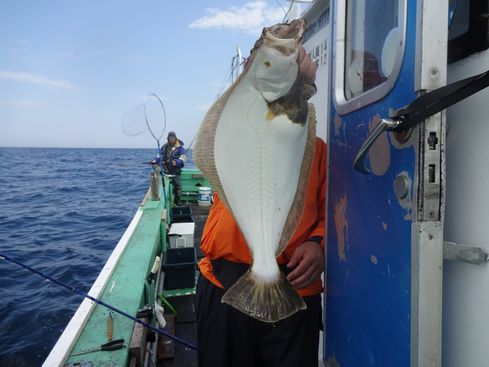
{"label": "dark trousers of the person in orange, below the fish's tail", "polygon": [[317,367],[321,296],[307,310],[270,324],[221,303],[226,292],[204,276],[196,294],[199,367]]}

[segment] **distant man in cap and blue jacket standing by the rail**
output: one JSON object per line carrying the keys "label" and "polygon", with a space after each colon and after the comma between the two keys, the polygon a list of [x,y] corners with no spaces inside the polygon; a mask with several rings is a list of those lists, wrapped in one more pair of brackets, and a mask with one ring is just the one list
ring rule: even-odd
{"label": "distant man in cap and blue jacket standing by the rail", "polygon": [[177,138],[175,132],[170,131],[167,136],[167,142],[161,148],[161,157],[163,159],[163,169],[165,173],[172,175],[173,184],[173,202],[175,205],[182,205],[180,198],[182,196],[182,184],[180,174],[185,165],[186,155],[183,142]]}

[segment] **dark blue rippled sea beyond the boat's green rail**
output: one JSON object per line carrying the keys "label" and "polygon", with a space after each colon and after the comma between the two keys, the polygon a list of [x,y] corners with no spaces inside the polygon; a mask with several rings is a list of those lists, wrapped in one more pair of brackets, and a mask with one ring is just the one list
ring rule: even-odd
{"label": "dark blue rippled sea beyond the boat's green rail", "polygon": [[[88,292],[149,186],[150,149],[0,148],[0,253]],[[40,366],[82,302],[0,260],[0,366]]]}

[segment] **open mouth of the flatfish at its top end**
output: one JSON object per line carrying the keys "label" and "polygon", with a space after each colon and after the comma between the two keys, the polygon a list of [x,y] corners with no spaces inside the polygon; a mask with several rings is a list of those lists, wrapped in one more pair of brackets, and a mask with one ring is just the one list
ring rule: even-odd
{"label": "open mouth of the flatfish at its top end", "polygon": [[305,22],[303,19],[295,19],[290,23],[279,23],[263,29],[263,42],[276,49],[285,56],[297,51]]}

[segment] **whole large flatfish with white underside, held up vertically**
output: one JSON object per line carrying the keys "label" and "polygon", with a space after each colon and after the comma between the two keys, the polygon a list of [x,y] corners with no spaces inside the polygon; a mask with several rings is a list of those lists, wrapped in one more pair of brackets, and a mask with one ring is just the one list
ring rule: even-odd
{"label": "whole large flatfish with white underside, held up vertically", "polygon": [[265,28],[239,79],[199,129],[194,158],[233,214],[253,264],[222,298],[276,322],[306,308],[276,257],[304,209],[316,120],[298,75],[302,20]]}

